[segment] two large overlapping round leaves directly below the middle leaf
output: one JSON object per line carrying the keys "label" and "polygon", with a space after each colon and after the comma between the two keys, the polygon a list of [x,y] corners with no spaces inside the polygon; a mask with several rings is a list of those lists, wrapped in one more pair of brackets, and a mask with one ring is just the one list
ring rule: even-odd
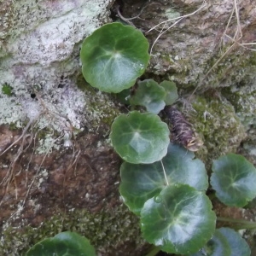
{"label": "two large overlapping round leaves directly below the middle leaf", "polygon": [[177,144],[151,165],[121,166],[125,204],[140,216],[143,237],[167,253],[195,253],[211,239],[216,216],[207,187],[204,164]]}

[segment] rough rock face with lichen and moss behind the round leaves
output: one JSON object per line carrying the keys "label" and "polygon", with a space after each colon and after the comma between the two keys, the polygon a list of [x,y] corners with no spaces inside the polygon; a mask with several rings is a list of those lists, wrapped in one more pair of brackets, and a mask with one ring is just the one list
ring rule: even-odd
{"label": "rough rock face with lichen and moss behind the round leaves", "polygon": [[236,150],[254,160],[255,6],[250,0],[1,1],[0,254],[20,255],[46,236],[77,230],[98,255],[143,255],[138,220],[119,200],[120,162],[108,141],[119,105],[80,72],[80,44],[111,21],[111,8],[113,19],[139,15],[126,21],[152,45],[143,78],[176,82],[179,105],[205,141],[198,156],[207,166]]}

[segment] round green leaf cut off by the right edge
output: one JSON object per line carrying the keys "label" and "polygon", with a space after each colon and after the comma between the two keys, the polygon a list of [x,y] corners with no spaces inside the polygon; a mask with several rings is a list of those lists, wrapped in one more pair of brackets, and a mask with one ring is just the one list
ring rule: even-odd
{"label": "round green leaf cut off by the right edge", "polygon": [[213,160],[212,188],[228,206],[244,207],[256,196],[256,169],[240,154],[226,154]]}

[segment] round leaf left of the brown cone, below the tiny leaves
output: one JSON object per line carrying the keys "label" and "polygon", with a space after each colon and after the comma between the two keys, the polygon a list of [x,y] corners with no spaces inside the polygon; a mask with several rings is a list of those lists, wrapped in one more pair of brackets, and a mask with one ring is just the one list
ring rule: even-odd
{"label": "round leaf left of the brown cone, below the tiny leaves", "polygon": [[113,121],[110,138],[120,157],[130,163],[153,163],[166,153],[169,128],[153,113],[132,111]]}

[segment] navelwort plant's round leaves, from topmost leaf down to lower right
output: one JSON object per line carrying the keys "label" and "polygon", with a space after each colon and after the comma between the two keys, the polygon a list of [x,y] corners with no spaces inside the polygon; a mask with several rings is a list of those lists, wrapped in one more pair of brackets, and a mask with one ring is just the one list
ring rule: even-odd
{"label": "navelwort plant's round leaves, from topmost leaf down to lower right", "polygon": [[[249,256],[247,242],[235,230],[216,230],[218,218],[206,195],[204,163],[182,145],[170,143],[168,125],[157,115],[177,100],[176,85],[146,79],[129,90],[149,61],[143,33],[120,23],[104,25],[85,38],[80,56],[84,79],[91,86],[118,93],[121,102],[140,110],[114,119],[110,138],[124,160],[120,195],[140,217],[144,239],[154,245],[147,255],[161,250],[193,256]],[[194,143],[195,137],[190,140]],[[256,196],[256,169],[241,155],[213,160],[210,180],[218,199],[228,206],[244,207]],[[249,224],[256,228],[255,223]]]}

